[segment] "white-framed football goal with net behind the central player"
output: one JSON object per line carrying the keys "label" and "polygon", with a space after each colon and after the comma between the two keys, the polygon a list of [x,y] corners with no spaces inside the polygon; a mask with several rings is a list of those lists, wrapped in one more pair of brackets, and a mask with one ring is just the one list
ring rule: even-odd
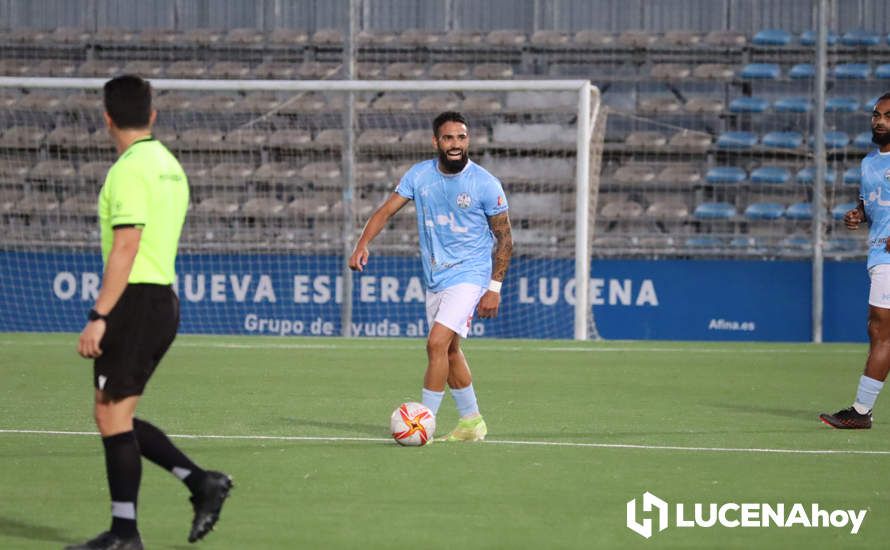
{"label": "white-framed football goal with net behind the central player", "polygon": [[[116,157],[103,80],[0,80],[0,330],[76,331],[101,282],[96,199]],[[458,110],[471,159],[504,184],[515,242],[500,316],[476,320],[471,335],[596,337],[588,282],[604,116],[589,83],[152,84],[155,136],[191,186],[183,332],[424,335],[412,203],[372,243],[363,273],[346,258],[402,174],[433,156],[432,119]]]}

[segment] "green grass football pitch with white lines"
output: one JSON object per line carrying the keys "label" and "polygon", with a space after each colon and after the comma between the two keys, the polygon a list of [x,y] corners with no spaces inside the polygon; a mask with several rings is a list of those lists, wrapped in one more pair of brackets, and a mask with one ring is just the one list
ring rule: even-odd
{"label": "green grass football pitch with white lines", "polygon": [[[0,548],[61,548],[107,527],[98,436],[49,433],[95,431],[91,366],[75,342],[0,334]],[[139,415],[234,477],[222,519],[199,543],[208,549],[890,540],[881,414],[890,403],[879,401],[870,431],[817,419],[850,403],[863,345],[469,340],[464,349],[489,425],[481,444],[387,440],[392,410],[419,399],[422,340],[180,336]],[[438,422],[440,433],[456,422],[450,397]],[[790,452],[801,450],[834,452]],[[645,491],[689,506],[799,502],[868,515],[856,535],[671,526],[646,540],[625,525],[626,503]],[[139,520],[147,548],[194,548],[184,486],[148,462]]]}

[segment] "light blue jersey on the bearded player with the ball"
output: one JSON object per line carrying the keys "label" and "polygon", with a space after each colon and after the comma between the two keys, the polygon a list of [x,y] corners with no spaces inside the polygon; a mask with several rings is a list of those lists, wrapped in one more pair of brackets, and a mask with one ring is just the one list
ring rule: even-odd
{"label": "light blue jersey on the bearded player with the ball", "polygon": [[458,174],[443,174],[431,159],[412,166],[396,193],[417,208],[427,289],[439,292],[460,283],[487,287],[494,246],[488,217],[507,210],[501,182],[472,160]]}

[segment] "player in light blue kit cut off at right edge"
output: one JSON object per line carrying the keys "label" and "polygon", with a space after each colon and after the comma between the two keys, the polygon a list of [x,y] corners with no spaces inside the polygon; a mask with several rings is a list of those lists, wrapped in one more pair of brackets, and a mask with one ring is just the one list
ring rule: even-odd
{"label": "player in light blue kit cut off at right edge", "polygon": [[868,357],[853,405],[819,419],[832,428],[871,428],[871,411],[890,372],[890,93],[878,98],[871,115],[876,151],[862,159],[859,204],[844,214],[847,229],[868,222]]}

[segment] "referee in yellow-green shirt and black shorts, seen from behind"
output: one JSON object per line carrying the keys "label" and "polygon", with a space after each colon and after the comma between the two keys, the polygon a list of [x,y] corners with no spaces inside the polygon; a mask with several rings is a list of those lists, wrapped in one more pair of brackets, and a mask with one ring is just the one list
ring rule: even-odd
{"label": "referee in yellow-green shirt and black shorts, seen from behind", "polygon": [[202,470],[164,432],[134,417],[179,325],[172,283],[188,181],[176,158],[151,136],[157,113],[147,81],[114,78],[105,83],[104,102],[105,124],[119,158],[99,193],[105,271],[77,352],[94,360],[95,419],[105,447],[111,528],[68,548],[142,548],[136,526],[141,456],[188,486],[195,512],[188,540],[195,542],[219,519],[232,480]]}

